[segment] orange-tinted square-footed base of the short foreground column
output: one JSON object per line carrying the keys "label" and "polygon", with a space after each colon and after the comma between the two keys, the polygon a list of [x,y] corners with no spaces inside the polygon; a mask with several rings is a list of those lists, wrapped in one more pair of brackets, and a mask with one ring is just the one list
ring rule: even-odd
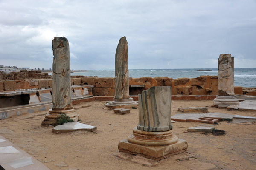
{"label": "orange-tinted square-footed base of the short foreground column", "polygon": [[146,132],[134,128],[128,139],[118,144],[119,152],[131,153],[154,159],[156,161],[186,151],[188,144],[178,139],[172,130],[163,132]]}

